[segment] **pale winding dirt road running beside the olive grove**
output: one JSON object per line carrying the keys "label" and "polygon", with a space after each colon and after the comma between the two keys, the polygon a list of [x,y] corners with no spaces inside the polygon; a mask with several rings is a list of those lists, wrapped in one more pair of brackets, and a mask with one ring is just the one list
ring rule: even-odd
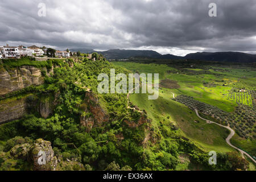
{"label": "pale winding dirt road running beside the olive grove", "polygon": [[[171,92],[171,93],[172,93],[172,92]],[[174,94],[174,93],[172,93],[172,94],[173,94],[173,97],[175,98],[175,94]],[[230,142],[230,139],[232,139],[232,137],[233,137],[234,134],[235,134],[235,131],[234,131],[232,128],[230,128],[229,126],[224,126],[224,125],[221,125],[221,124],[219,124],[219,123],[216,123],[216,122],[213,122],[213,121],[210,121],[210,120],[208,120],[208,119],[205,119],[205,118],[200,117],[200,115],[199,115],[197,109],[195,109],[195,112],[196,112],[197,117],[199,117],[200,119],[203,119],[203,120],[206,121],[208,124],[212,124],[212,123],[213,123],[213,124],[216,124],[216,125],[218,125],[218,126],[225,127],[225,129],[228,129],[228,130],[230,131],[230,134],[229,134],[228,137],[226,138],[226,143],[228,143],[230,147],[233,147],[233,148],[235,148],[236,150],[240,151],[243,159],[245,158],[244,155],[246,155],[248,158],[250,158],[250,159],[256,164],[256,161],[255,161],[249,154],[247,154],[247,152],[241,150],[240,148],[237,148],[237,147],[233,146],[233,144]]]}

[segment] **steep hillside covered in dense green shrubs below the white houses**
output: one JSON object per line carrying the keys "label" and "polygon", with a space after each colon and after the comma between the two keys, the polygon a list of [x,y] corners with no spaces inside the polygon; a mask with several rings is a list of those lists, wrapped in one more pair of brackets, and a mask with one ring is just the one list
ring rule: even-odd
{"label": "steep hillside covered in dense green shrubs below the white houses", "polygon": [[[73,64],[68,64],[68,61]],[[1,64],[1,68],[5,70],[5,75],[10,73],[12,76],[13,62],[5,63]],[[22,103],[24,109],[15,121],[0,125],[1,170],[246,168],[246,160],[241,159],[222,140],[227,135],[225,130],[214,126],[204,127],[209,139],[210,133],[217,135],[220,132],[213,143],[196,136],[196,133],[189,134],[186,123],[191,123],[190,117],[196,118],[196,115],[189,114],[189,109],[179,103],[173,105],[168,92],[164,92],[159,100],[148,103],[140,102],[146,95],[140,97],[138,94],[135,95],[138,98],[131,97],[129,105],[127,94],[99,94],[98,74],[104,72],[109,75],[112,68],[116,75],[130,73],[119,65],[104,61],[101,57],[96,61],[78,59],[76,62],[59,60],[58,63],[43,63],[23,60],[14,63],[20,64],[20,67],[26,64],[39,68],[44,82],[42,85],[30,82],[32,85],[23,85],[24,88],[9,90],[9,93],[2,95],[1,112],[13,115],[15,110],[8,108],[17,103]],[[46,72],[44,68],[47,68]],[[15,67],[16,71],[19,69]],[[47,76],[48,69],[53,69],[51,77]],[[161,68],[159,70],[163,71]],[[140,108],[145,104],[145,110],[133,109],[138,108],[134,104]],[[151,113],[148,104],[154,104],[156,113]],[[166,109],[162,110],[162,107]],[[172,117],[170,110],[175,108],[180,108],[181,113],[177,111]],[[184,117],[181,118],[181,115]],[[173,122],[177,118],[180,118],[178,127]],[[200,122],[203,124],[203,121]],[[200,130],[199,127],[197,131]],[[204,130],[200,132],[204,134]],[[208,163],[207,151],[212,149],[212,144],[219,148],[220,166],[210,166]],[[46,166],[36,163],[40,148],[46,150]],[[231,163],[232,160],[242,162],[237,166]]]}

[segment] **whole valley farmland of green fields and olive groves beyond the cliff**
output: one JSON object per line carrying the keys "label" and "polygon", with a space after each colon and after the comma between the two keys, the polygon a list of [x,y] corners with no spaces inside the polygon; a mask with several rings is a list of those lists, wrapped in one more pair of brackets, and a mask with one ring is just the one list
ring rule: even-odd
{"label": "whole valley farmland of green fields and olive groves beyond the cliff", "polygon": [[[205,125],[204,118],[232,127],[231,142],[256,154],[255,91],[256,70],[238,65],[167,64],[113,62],[137,73],[159,73],[159,99],[148,101],[143,94],[131,95],[131,101],[147,111],[155,125],[173,122],[181,135],[193,140],[204,151],[230,151],[225,143],[229,131]],[[191,68],[192,67],[192,68]],[[169,81],[168,81],[169,80]],[[177,100],[172,98],[175,94]],[[170,118],[170,119],[167,119]]]}

